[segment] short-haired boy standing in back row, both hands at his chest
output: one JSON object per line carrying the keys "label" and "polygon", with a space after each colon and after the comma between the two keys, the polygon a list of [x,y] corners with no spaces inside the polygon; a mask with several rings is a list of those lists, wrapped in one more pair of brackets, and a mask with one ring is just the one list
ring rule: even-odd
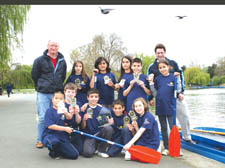
{"label": "short-haired boy standing in back row, both hands at his chest", "polygon": [[127,110],[132,109],[133,101],[138,97],[143,97],[147,101],[147,95],[150,95],[147,76],[142,74],[142,61],[134,58],[131,66],[133,75],[125,82],[123,96],[127,96]]}

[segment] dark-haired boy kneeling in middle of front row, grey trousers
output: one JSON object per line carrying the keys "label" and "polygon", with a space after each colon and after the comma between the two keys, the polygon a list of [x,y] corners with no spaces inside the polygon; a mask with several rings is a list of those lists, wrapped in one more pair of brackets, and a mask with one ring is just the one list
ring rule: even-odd
{"label": "dark-haired boy kneeling in middle of front row, grey trousers", "polygon": [[[111,112],[107,108],[98,105],[99,91],[97,89],[90,89],[87,94],[88,107],[85,110],[82,129],[85,129],[88,134],[110,140],[113,134],[113,128],[110,126],[113,124],[113,120],[112,118],[109,119]],[[109,157],[106,154],[107,148],[107,143],[86,137],[83,155],[92,157],[97,149],[99,156],[107,158]]]}

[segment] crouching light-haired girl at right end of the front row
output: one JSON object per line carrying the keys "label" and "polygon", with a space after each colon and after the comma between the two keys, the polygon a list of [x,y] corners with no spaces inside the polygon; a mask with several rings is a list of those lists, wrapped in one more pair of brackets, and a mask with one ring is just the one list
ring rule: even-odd
{"label": "crouching light-haired girl at right end of the front row", "polygon": [[[158,123],[149,112],[146,100],[142,97],[134,100],[132,105],[137,115],[137,120],[132,121],[135,134],[132,138],[130,132],[127,133],[130,141],[124,146],[128,150],[132,145],[145,146],[157,150],[160,144]],[[125,160],[137,160],[126,151]]]}

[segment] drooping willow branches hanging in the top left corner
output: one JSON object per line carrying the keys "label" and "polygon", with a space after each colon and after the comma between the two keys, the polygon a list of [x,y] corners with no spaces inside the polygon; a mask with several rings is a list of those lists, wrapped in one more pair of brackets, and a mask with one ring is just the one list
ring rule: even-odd
{"label": "drooping willow branches hanging in the top left corner", "polygon": [[[29,9],[30,5],[0,5],[0,81],[2,82],[9,71],[11,50],[21,44]],[[21,37],[19,38],[18,35]]]}

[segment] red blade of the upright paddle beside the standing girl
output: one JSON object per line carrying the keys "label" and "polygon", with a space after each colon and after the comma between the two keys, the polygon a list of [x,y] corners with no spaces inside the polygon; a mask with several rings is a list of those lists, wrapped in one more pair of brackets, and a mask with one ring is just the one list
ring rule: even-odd
{"label": "red blade of the upright paddle beside the standing girl", "polygon": [[169,135],[169,155],[173,157],[180,156],[180,134],[176,125],[173,126]]}

